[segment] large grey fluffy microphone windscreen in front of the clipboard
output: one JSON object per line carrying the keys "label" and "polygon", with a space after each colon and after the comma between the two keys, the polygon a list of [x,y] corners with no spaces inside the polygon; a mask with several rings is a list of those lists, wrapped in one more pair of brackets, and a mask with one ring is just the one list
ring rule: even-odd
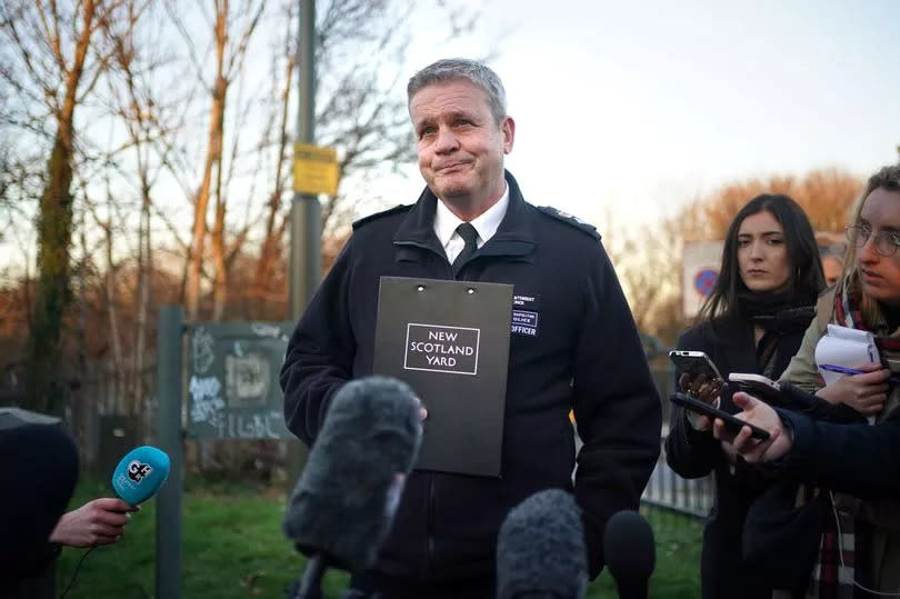
{"label": "large grey fluffy microphone windscreen in front of the clipboard", "polygon": [[284,535],[307,555],[323,552],[329,566],[370,567],[421,433],[419,402],[404,382],[370,377],[341,387],[288,500]]}

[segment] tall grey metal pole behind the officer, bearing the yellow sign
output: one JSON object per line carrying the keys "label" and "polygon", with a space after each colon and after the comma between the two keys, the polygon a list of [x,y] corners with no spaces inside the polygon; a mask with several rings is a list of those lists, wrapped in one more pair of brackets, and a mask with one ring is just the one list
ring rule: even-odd
{"label": "tall grey metal pole behind the officer, bearing the yellow sign", "polygon": [[[300,0],[297,64],[300,73],[297,141],[316,142],[316,1]],[[322,207],[316,196],[294,192],[291,202],[290,318],[303,313],[322,270]]]}

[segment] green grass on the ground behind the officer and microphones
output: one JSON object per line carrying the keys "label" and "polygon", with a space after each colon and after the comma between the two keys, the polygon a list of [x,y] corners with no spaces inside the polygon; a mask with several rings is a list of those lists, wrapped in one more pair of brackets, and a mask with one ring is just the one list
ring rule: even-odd
{"label": "green grass on the ground behind the officer and microphones", "polygon": [[[79,486],[72,507],[109,496],[98,482]],[[190,481],[182,502],[182,597],[278,598],[302,571],[303,560],[281,533],[284,493],[266,487]],[[147,599],[153,597],[154,511],[144,503],[122,539],[98,547],[84,559],[67,599]],[[657,568],[650,596],[694,599],[700,596],[700,525],[684,517],[648,509],[644,516],[657,541]],[[82,549],[63,549],[57,570],[59,591],[69,583]],[[326,597],[337,599],[347,577],[329,572]],[[603,572],[589,586],[592,599],[616,598],[614,582]]]}

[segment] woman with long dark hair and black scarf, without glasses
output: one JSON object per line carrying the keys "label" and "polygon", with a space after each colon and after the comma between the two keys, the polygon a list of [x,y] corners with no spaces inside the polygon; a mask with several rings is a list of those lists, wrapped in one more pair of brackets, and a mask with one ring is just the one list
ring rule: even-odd
{"label": "woman with long dark hair and black scarf, without glasses", "polygon": [[[678,349],[706,352],[728,378],[731,372],[778,379],[800,347],[824,288],[809,219],[787,196],[753,198],[729,227],[719,278],[697,323]],[[721,380],[676,372],[678,386],[728,411],[731,393]],[[704,599],[771,599],[772,588],[742,559],[741,535],[750,503],[766,488],[757,469],[712,436],[706,419],[673,406],[666,453],[684,478],[714,473],[716,506],[703,530],[701,585]]]}

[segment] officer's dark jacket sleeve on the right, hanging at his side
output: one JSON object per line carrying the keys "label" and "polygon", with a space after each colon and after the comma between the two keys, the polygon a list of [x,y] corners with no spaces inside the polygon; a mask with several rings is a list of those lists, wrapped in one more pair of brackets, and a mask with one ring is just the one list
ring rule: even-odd
{"label": "officer's dark jacket sleeve on the right, hanging at his side", "polygon": [[602,250],[590,273],[576,347],[573,409],[583,446],[576,498],[582,509],[590,577],[603,567],[603,530],[637,510],[660,452],[661,415],[637,327]]}

